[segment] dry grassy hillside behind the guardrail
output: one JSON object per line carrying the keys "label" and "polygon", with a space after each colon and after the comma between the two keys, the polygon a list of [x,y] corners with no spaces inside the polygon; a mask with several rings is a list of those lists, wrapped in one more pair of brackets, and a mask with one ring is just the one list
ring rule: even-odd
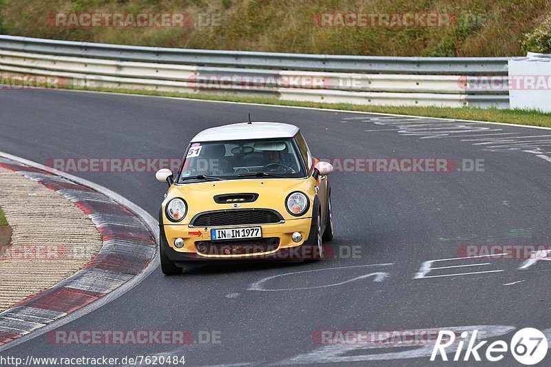
{"label": "dry grassy hillside behind the guardrail", "polygon": [[[136,28],[55,22],[65,18],[56,14],[68,17],[89,12],[187,12],[196,25]],[[514,56],[526,51],[549,51],[550,33],[545,19],[550,12],[549,0],[0,0],[0,33],[213,50]],[[362,22],[364,25],[346,26],[342,17],[336,21],[339,17],[335,13],[349,13],[353,17],[364,14],[367,21]],[[402,24],[401,17],[393,17],[408,13],[445,14],[450,22],[437,26],[426,21],[408,25]],[[386,15],[386,21],[379,14]],[[390,22],[389,17],[393,19]]]}

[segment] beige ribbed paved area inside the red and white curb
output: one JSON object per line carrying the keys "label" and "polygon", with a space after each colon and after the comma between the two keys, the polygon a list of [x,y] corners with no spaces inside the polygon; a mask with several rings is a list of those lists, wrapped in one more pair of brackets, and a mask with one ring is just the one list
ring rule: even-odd
{"label": "beige ribbed paved area inside the red and white curb", "polygon": [[12,240],[0,257],[0,311],[79,271],[103,244],[85,213],[38,182],[0,167]]}

